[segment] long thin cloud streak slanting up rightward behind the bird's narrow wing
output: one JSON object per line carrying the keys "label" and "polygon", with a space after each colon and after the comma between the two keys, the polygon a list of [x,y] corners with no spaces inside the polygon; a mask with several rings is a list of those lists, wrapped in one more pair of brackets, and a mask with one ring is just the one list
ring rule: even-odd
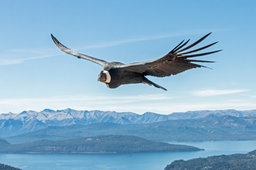
{"label": "long thin cloud streak slanting up rightward behind the bird's narrow wing", "polygon": [[[106,48],[106,47],[111,47],[111,46],[121,45],[125,43],[131,43],[131,42],[159,40],[163,38],[179,37],[179,36],[195,35],[195,34],[207,34],[212,31],[223,32],[223,31],[227,31],[227,29],[187,30],[187,31],[176,32],[173,34],[144,36],[144,37],[133,38],[128,40],[118,40],[118,41],[105,42],[105,43],[95,44],[95,45],[81,46],[80,48],[74,48],[73,50],[79,51],[79,50],[91,49],[91,48]],[[29,59],[53,57],[53,56],[58,56],[63,54],[64,53],[62,51],[59,51],[56,48],[13,49],[0,54],[0,65],[19,64]]]}

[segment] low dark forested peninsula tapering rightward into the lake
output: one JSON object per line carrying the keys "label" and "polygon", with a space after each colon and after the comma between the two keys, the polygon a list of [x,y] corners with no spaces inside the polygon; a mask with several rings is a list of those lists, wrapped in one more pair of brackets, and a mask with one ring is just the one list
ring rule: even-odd
{"label": "low dark forested peninsula tapering rightward into the lake", "polygon": [[136,153],[198,151],[197,147],[155,142],[137,136],[108,135],[63,141],[41,140],[21,144],[2,144],[0,153]]}

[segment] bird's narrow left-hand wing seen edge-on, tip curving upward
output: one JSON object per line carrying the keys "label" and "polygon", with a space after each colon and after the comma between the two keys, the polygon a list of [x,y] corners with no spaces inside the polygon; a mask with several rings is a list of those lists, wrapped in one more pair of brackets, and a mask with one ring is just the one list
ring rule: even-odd
{"label": "bird's narrow left-hand wing seen edge-on, tip curving upward", "polygon": [[76,56],[77,58],[83,58],[83,59],[90,60],[92,62],[95,62],[95,63],[99,64],[99,65],[102,65],[103,67],[104,67],[105,64],[108,63],[108,62],[106,62],[102,59],[93,58],[93,57],[90,57],[90,56],[87,56],[87,55],[84,55],[84,54],[80,54],[76,51],[73,51],[73,50],[65,47],[64,45],[62,45],[55,37],[53,37],[52,34],[51,34],[51,36],[52,36],[52,40],[55,43],[55,45],[57,45],[57,47],[60,48],[61,51],[64,51],[67,54]]}

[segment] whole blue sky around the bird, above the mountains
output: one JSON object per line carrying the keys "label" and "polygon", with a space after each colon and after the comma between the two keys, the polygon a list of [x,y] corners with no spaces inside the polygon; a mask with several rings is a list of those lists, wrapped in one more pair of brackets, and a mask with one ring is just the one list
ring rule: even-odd
{"label": "whole blue sky around the bird, above the mountains", "polygon": [[[73,108],[147,111],[256,109],[256,2],[38,0],[0,2],[0,113]],[[182,40],[215,63],[171,77],[148,77],[168,91],[136,84],[109,89],[102,67],[60,51],[68,48],[125,64],[167,54]]]}

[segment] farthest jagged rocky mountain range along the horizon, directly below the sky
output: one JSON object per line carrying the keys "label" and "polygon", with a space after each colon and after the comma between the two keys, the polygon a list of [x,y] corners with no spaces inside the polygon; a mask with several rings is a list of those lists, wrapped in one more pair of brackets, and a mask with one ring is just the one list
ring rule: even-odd
{"label": "farthest jagged rocky mountain range along the horizon, directly below the sky", "polygon": [[132,112],[115,111],[76,111],[70,108],[53,111],[23,111],[21,113],[0,114],[0,137],[14,136],[42,129],[47,126],[88,125],[99,122],[112,122],[122,125],[148,124],[176,119],[200,119],[205,117],[220,117],[224,115],[244,117],[256,116],[256,110],[251,111],[188,111],[162,115],[146,112],[142,115]]}

